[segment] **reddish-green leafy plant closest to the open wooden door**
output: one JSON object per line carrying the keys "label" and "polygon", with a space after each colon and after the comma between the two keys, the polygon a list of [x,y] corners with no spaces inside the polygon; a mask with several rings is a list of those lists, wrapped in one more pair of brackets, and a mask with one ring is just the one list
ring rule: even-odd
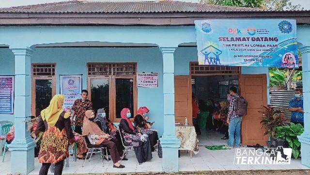
{"label": "reddish-green leafy plant closest to the open wooden door", "polygon": [[289,122],[285,119],[284,113],[280,110],[275,110],[272,107],[263,106],[264,111],[259,111],[263,114],[262,128],[265,128],[264,135],[273,137],[275,135],[275,127],[289,125]]}

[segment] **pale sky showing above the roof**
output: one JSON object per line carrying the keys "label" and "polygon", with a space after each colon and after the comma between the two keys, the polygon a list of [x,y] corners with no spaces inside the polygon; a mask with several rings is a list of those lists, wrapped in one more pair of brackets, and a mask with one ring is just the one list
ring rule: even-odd
{"label": "pale sky showing above the roof", "polygon": [[[21,5],[40,4],[48,2],[60,2],[68,0],[0,0],[0,8],[3,7],[15,7]],[[199,0],[178,0],[187,2],[196,2]],[[310,10],[310,0],[291,0],[293,4],[301,4],[305,9]]]}

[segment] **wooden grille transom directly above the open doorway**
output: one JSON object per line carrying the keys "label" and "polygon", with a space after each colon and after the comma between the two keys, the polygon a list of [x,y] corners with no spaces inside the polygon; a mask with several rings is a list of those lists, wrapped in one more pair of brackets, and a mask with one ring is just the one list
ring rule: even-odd
{"label": "wooden grille transom directly above the open doorway", "polygon": [[190,73],[213,74],[213,75],[237,75],[241,73],[241,67],[224,66],[224,65],[199,65],[198,62],[191,62]]}

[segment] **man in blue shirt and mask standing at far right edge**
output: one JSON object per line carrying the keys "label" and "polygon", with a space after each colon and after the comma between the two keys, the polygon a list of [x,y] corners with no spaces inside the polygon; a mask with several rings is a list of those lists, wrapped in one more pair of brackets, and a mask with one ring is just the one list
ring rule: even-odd
{"label": "man in blue shirt and mask standing at far right edge", "polygon": [[304,126],[304,101],[302,90],[295,89],[295,97],[290,101],[289,111],[292,111],[291,122]]}

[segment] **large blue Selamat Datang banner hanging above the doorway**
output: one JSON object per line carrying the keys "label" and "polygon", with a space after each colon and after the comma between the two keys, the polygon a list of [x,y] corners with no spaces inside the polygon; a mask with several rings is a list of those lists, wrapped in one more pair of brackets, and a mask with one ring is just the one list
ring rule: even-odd
{"label": "large blue Selamat Datang banner hanging above the doorway", "polygon": [[201,65],[298,67],[296,20],[195,20]]}

